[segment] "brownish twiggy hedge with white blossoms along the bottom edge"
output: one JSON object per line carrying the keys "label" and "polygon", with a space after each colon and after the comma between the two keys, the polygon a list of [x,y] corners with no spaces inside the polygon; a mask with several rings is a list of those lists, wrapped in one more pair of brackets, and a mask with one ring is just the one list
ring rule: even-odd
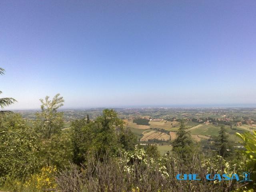
{"label": "brownish twiggy hedge with white blossoms along the bottom edge", "polygon": [[[208,173],[242,172],[243,165],[225,161],[220,156],[201,160],[195,156],[193,161],[181,160],[175,155],[166,155],[161,158],[150,158],[145,150],[135,149],[130,152],[121,152],[119,157],[104,161],[97,158],[88,158],[88,162],[78,168],[72,165],[58,174],[56,181],[62,192],[86,191],[145,191],[145,192],[176,192],[180,191],[224,191],[242,188],[240,182],[216,181],[208,182],[205,175]],[[202,180],[178,181],[179,173],[197,173]]]}

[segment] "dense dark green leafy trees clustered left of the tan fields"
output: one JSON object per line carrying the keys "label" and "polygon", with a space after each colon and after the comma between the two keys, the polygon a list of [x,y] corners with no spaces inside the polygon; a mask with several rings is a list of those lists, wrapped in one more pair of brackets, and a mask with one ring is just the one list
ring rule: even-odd
{"label": "dense dark green leafy trees clustered left of the tan fields", "polygon": [[132,150],[136,136],[124,127],[114,110],[103,110],[93,122],[86,119],[76,120],[71,126],[73,161],[80,164],[86,160],[88,152],[95,152],[102,157],[106,152],[115,154],[118,149]]}

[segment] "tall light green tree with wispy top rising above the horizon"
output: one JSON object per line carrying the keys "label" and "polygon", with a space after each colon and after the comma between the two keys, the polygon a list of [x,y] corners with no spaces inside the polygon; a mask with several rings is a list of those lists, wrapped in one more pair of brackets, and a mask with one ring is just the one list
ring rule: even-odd
{"label": "tall light green tree with wispy top rising above the horizon", "polygon": [[40,99],[41,112],[36,113],[34,127],[40,139],[41,145],[38,159],[44,165],[56,165],[63,167],[68,165],[72,158],[70,133],[64,128],[63,112],[58,108],[63,106],[64,99],[56,94],[52,100],[49,96],[45,100]]}

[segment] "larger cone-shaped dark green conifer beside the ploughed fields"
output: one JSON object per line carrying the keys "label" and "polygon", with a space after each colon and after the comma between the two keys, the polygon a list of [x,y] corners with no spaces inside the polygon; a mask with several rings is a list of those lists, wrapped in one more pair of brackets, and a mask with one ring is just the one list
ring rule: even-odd
{"label": "larger cone-shaped dark green conifer beside the ploughed fields", "polygon": [[184,121],[180,122],[180,128],[177,132],[175,140],[172,142],[173,148],[185,148],[193,144],[193,140],[189,131],[186,131]]}

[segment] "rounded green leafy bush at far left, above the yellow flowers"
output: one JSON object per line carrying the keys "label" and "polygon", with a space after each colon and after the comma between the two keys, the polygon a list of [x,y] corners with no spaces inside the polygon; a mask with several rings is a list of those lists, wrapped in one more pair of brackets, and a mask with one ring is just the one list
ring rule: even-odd
{"label": "rounded green leafy bush at far left, above the yellow flowers", "polygon": [[16,113],[0,114],[0,183],[23,178],[38,168],[35,132]]}

